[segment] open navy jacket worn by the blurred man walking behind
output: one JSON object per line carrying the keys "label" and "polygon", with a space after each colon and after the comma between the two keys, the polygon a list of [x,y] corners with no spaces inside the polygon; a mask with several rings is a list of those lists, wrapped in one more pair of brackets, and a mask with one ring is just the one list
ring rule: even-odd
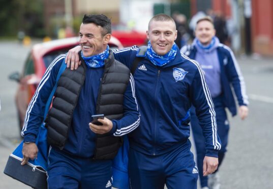
{"label": "open navy jacket worn by the blurred man walking behind", "polygon": [[[195,59],[197,50],[194,45],[187,45],[181,48],[180,52],[186,54],[192,59]],[[240,68],[237,64],[234,54],[229,47],[220,43],[217,48],[217,54],[221,70],[220,77],[224,98],[223,103],[229,109],[232,116],[234,116],[236,115],[237,110],[230,84],[232,84],[239,106],[247,106],[249,102],[246,93],[245,81],[242,77]]]}

